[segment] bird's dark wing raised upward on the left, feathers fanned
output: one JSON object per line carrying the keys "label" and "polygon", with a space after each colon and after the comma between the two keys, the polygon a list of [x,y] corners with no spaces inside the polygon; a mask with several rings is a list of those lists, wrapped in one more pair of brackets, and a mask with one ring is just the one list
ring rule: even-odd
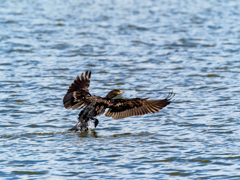
{"label": "bird's dark wing raised upward on the left, feathers fanned", "polygon": [[88,91],[90,79],[91,71],[86,71],[85,75],[82,73],[81,78],[79,76],[76,77],[63,98],[63,104],[66,109],[82,108],[92,101],[92,96]]}

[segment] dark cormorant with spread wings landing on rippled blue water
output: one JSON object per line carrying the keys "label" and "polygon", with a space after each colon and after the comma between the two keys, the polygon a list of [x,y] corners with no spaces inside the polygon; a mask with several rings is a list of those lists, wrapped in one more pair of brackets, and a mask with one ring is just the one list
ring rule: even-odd
{"label": "dark cormorant with spread wings landing on rippled blue water", "polygon": [[88,131],[99,124],[96,116],[105,113],[106,117],[123,119],[131,116],[140,116],[148,113],[156,113],[172,102],[173,92],[169,92],[165,99],[148,100],[148,98],[116,99],[124,93],[119,89],[111,90],[105,97],[90,94],[89,86],[91,71],[82,73],[69,86],[63,98],[63,105],[66,109],[82,109],[78,115],[78,123],[71,131]]}

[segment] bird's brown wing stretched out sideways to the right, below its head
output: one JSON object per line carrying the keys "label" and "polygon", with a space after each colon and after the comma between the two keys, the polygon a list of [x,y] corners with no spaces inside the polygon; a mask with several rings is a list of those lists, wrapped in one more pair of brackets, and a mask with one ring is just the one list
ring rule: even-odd
{"label": "bird's brown wing stretched out sideways to the right, below its head", "polygon": [[109,110],[105,116],[113,119],[122,119],[130,116],[140,116],[147,113],[155,113],[171,103],[171,99],[175,94],[172,92],[162,100],[146,99],[112,99],[109,103]]}

